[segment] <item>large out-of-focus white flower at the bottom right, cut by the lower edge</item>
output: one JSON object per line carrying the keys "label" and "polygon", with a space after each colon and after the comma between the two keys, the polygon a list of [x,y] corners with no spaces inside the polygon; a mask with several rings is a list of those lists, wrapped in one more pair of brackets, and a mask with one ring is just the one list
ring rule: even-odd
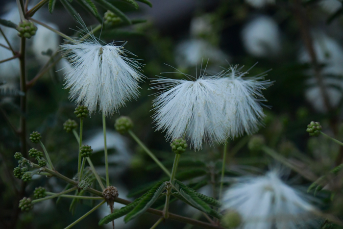
{"label": "large out-of-focus white flower at the bottom right, cut by the lower edge", "polygon": [[275,171],[263,177],[242,178],[224,193],[222,202],[222,210],[241,215],[240,229],[296,229],[317,211]]}

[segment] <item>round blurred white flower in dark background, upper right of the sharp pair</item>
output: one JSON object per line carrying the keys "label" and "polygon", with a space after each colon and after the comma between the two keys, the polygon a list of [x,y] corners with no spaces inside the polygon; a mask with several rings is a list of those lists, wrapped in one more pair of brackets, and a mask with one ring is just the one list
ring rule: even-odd
{"label": "round blurred white flower in dark background, upper right of the sharp pair", "polygon": [[257,57],[275,56],[281,51],[281,35],[276,22],[268,16],[258,16],[242,30],[245,50]]}

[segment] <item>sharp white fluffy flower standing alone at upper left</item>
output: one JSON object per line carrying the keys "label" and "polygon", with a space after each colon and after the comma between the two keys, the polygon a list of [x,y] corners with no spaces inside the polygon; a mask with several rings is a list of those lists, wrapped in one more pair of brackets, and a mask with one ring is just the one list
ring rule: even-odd
{"label": "sharp white fluffy flower standing alone at upper left", "polygon": [[[80,24],[88,33],[83,22]],[[107,116],[139,96],[139,82],[144,76],[138,70],[142,64],[126,57],[125,53],[132,53],[123,49],[125,43],[102,46],[93,34],[90,37],[85,42],[61,45],[73,67],[65,74],[65,88],[70,88],[70,98],[86,105],[90,113],[98,108]]]}

